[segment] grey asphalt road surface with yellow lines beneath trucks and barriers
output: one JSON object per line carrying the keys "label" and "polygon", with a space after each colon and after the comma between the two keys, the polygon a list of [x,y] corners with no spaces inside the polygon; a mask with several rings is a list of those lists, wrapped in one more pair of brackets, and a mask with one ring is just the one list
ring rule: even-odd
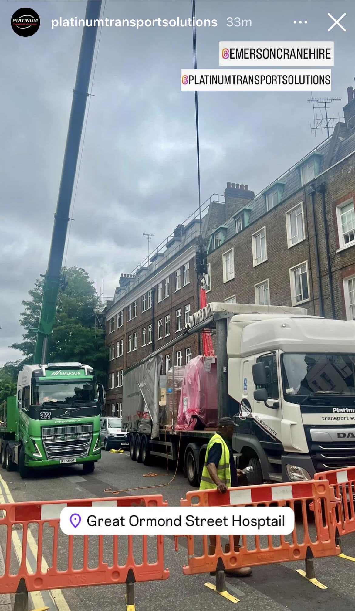
{"label": "grey asphalt road surface with yellow lines beneath trucks and barriers", "polygon": [[[158,474],[156,477],[145,477],[149,472]],[[163,499],[170,505],[178,505],[180,498],[189,489],[188,481],[178,472],[174,481],[169,483],[174,475],[170,468],[167,475],[164,461],[152,467],[133,463],[128,452],[123,454],[103,452],[101,461],[96,464],[95,472],[83,475],[81,467],[70,467],[65,470],[41,472],[29,480],[21,480],[17,472],[8,473],[0,469],[0,489],[2,502],[26,500],[67,500],[93,497],[110,497],[113,491],[153,486],[145,490],[130,490],[120,496],[134,494],[163,494]],[[159,485],[169,483],[167,486]],[[0,542],[5,549],[3,526],[0,526]],[[29,540],[27,558],[29,565],[34,566],[37,557],[36,533]],[[16,564],[16,555],[21,557],[21,530],[16,533],[13,546],[12,564]],[[109,539],[109,538],[108,538]],[[51,532],[45,536],[43,545],[42,566],[51,566]],[[152,540],[150,540],[152,541]],[[181,540],[182,541],[182,540]],[[104,557],[108,558],[112,544],[106,543]],[[343,538],[343,552],[355,558],[355,535]],[[97,553],[97,552],[96,552]],[[124,554],[124,548],[120,550]],[[82,547],[81,547],[82,554]],[[107,555],[106,555],[107,554]],[[111,552],[112,554],[112,552]],[[60,544],[58,556],[65,568],[67,549]],[[79,563],[80,553],[75,554],[75,563]],[[90,552],[95,566],[95,551]],[[236,605],[222,598],[205,587],[205,582],[214,581],[206,575],[184,576],[181,570],[187,562],[186,545],[180,544],[178,552],[174,549],[174,538],[165,540],[165,565],[170,569],[170,577],[165,581],[136,584],[136,610],[159,611],[174,609],[175,611],[224,611],[235,607],[238,611],[329,611],[329,609],[355,609],[355,562],[339,557],[321,558],[315,560],[317,579],[328,587],[322,590],[306,579],[303,579],[296,569],[303,569],[304,564],[298,562],[282,565],[267,565],[256,567],[251,577],[235,579],[227,577],[227,589],[230,594],[240,600]],[[78,567],[79,568],[79,564]],[[32,606],[31,606],[32,604]],[[125,585],[107,585],[81,587],[53,592],[35,593],[32,595],[29,609],[49,607],[49,611],[104,611],[125,610]],[[1,609],[1,607],[0,607]]]}

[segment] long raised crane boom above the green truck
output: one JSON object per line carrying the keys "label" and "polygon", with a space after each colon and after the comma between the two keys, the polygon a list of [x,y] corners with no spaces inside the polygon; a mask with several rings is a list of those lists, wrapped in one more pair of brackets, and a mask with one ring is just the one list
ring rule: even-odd
{"label": "long raised crane boom above the green truck", "polygon": [[[98,19],[101,10],[101,0],[88,0],[85,19]],[[87,23],[87,21],[85,21]],[[89,82],[93,61],[93,52],[97,37],[97,27],[84,25],[81,38],[81,47],[76,71],[75,89],[71,103],[70,120],[68,126],[67,143],[65,144],[62,176],[60,177],[57,209],[54,214],[54,226],[51,249],[49,251],[48,267],[43,285],[42,305],[38,323],[37,339],[34,349],[33,364],[45,363],[50,337],[56,321],[57,295],[60,286],[60,271],[62,269],[65,240],[71,196],[75,180],[76,164],[78,162],[79,146],[82,126],[86,111],[86,101],[89,95]]]}

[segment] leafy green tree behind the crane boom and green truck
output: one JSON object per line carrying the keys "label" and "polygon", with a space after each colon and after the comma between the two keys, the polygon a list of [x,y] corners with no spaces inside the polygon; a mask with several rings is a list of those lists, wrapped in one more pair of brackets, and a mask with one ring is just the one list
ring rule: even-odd
{"label": "leafy green tree behind the crane boom and green truck", "polygon": [[[82,268],[62,268],[67,277],[67,288],[59,291],[57,299],[56,324],[49,341],[48,362],[75,362],[91,365],[100,382],[106,379],[108,350],[104,345],[103,331],[95,326],[98,298],[89,274]],[[21,343],[11,348],[21,350],[32,362],[36,334],[30,329],[37,328],[42,304],[43,279],[35,282],[29,291],[31,299],[23,301],[20,323],[26,329]]]}

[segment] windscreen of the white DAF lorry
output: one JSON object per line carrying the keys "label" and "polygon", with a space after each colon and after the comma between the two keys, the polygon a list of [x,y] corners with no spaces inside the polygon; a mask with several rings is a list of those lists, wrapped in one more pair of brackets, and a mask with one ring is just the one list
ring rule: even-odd
{"label": "windscreen of the white DAF lorry", "polygon": [[282,354],[281,371],[287,401],[314,394],[355,395],[355,354]]}

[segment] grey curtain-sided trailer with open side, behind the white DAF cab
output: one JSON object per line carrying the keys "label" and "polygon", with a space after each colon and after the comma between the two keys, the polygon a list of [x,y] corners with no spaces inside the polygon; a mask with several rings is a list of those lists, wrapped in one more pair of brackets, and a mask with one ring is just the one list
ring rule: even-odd
{"label": "grey curtain-sided trailer with open side, behind the white DAF cab", "polygon": [[[166,343],[154,353],[142,359],[123,373],[123,430],[129,431],[128,447],[132,461],[150,464],[151,456],[178,459],[191,486],[198,486],[209,439],[216,433],[216,428],[204,430],[176,430],[176,423],[170,428],[159,426],[158,420],[158,378],[161,353],[172,348],[172,367],[174,378],[174,350],[181,340],[193,333],[210,332],[215,337],[217,364],[217,397],[218,419],[224,416],[233,417],[238,411],[235,402],[228,392],[228,354],[227,335],[233,316],[252,312],[270,314],[304,313],[300,308],[279,306],[244,305],[211,303],[190,316],[185,331]],[[175,384],[172,384],[173,404]],[[174,420],[174,417],[173,417]],[[235,450],[238,459],[239,452]]]}

